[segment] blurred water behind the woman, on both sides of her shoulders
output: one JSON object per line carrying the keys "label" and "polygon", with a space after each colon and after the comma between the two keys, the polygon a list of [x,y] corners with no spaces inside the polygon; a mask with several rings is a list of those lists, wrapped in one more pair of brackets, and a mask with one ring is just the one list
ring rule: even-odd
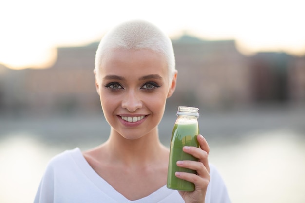
{"label": "blurred water behind the woman, on both sides of her shoulders", "polygon": [[[255,112],[201,116],[210,162],[233,203],[304,203],[304,111]],[[160,125],[167,146],[174,121],[173,114]],[[0,203],[32,203],[51,157],[99,145],[108,134],[101,116],[0,119]]]}

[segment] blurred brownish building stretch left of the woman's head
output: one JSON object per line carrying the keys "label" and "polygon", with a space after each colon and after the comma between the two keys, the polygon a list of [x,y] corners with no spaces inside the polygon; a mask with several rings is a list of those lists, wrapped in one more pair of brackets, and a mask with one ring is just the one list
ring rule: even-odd
{"label": "blurred brownish building stretch left of the woman's head", "polygon": [[50,68],[7,69],[0,84],[0,90],[4,89],[0,98],[4,111],[65,114],[100,111],[93,74],[96,48],[96,44],[60,47],[57,61]]}

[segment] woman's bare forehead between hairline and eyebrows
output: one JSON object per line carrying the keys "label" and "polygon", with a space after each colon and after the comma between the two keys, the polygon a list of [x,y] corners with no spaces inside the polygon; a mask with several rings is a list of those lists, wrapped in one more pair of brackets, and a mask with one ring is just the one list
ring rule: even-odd
{"label": "woman's bare forehead between hairline and eyebrows", "polygon": [[152,50],[115,49],[107,52],[101,60],[100,74],[160,74],[168,75],[165,58]]}

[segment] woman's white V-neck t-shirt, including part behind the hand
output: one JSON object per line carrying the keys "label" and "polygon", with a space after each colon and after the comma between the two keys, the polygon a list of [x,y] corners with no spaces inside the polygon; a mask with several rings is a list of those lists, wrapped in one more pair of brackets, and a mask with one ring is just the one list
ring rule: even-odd
{"label": "woman's white V-neck t-shirt, including part behind the hand", "polygon": [[[210,165],[206,203],[230,203],[217,170]],[[79,148],[55,156],[48,164],[34,203],[184,203],[178,191],[164,185],[147,197],[131,201],[117,192],[88,164]]]}

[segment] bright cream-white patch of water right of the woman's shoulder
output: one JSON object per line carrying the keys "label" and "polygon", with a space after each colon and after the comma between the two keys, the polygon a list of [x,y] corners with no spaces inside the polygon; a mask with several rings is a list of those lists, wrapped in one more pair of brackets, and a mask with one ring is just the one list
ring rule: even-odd
{"label": "bright cream-white patch of water right of the woman's shoulder", "polygon": [[218,146],[210,160],[219,168],[234,203],[304,203],[304,137],[282,129],[248,135]]}

